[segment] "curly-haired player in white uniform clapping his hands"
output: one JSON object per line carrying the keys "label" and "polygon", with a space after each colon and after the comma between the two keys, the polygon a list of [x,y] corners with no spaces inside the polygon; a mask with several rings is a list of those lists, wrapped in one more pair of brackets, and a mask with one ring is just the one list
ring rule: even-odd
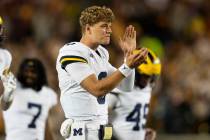
{"label": "curly-haired player in white uniform clapping his hands", "polygon": [[131,90],[135,74],[133,68],[146,59],[145,48],[139,53],[132,53],[136,49],[136,31],[130,25],[119,43],[125,54],[125,63],[116,69],[108,62],[109,54],[101,45],[110,43],[113,18],[114,14],[109,8],[86,8],[80,16],[80,42],[68,43],[59,51],[56,69],[60,101],[69,122],[63,123],[61,134],[67,138],[72,127],[71,140],[98,140],[108,135],[106,132],[104,136],[99,133],[103,131],[102,125],[108,122],[105,96],[117,86],[122,90]]}

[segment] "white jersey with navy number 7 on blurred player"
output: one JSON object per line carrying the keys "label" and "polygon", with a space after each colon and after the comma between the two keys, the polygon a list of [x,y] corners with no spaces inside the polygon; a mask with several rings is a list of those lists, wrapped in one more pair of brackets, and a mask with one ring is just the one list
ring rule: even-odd
{"label": "white jersey with navy number 7 on blurred player", "polygon": [[3,112],[6,140],[44,140],[48,112],[56,104],[51,88],[37,92],[18,85],[10,108]]}

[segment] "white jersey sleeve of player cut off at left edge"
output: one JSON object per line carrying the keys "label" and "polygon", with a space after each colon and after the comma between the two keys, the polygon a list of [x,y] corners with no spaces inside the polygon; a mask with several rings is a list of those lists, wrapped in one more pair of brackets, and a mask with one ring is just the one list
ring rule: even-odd
{"label": "white jersey sleeve of player cut off at left edge", "polygon": [[10,68],[12,56],[9,51],[0,48],[0,77]]}

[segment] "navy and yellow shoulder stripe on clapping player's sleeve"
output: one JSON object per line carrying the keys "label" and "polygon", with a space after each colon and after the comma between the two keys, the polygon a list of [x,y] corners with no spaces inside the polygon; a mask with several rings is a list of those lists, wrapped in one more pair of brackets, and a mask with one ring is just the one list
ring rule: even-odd
{"label": "navy and yellow shoulder stripe on clapping player's sleeve", "polygon": [[88,61],[85,58],[75,55],[62,56],[60,59],[62,69],[65,69],[68,64],[75,62],[88,63]]}

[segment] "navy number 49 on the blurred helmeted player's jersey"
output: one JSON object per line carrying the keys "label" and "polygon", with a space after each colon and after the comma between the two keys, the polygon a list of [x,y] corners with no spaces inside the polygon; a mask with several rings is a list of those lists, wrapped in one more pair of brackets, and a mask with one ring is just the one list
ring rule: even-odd
{"label": "navy number 49 on the blurred helmeted player's jersey", "polygon": [[[141,114],[141,109],[143,109],[143,114]],[[131,113],[129,113],[129,115],[126,117],[126,121],[135,123],[135,125],[133,127],[134,131],[139,131],[140,127],[142,129],[145,128],[148,109],[149,109],[148,104],[142,105],[142,104],[138,103],[135,105],[135,107],[131,111]],[[143,122],[143,120],[141,120],[141,118],[144,119],[145,122]]]}

